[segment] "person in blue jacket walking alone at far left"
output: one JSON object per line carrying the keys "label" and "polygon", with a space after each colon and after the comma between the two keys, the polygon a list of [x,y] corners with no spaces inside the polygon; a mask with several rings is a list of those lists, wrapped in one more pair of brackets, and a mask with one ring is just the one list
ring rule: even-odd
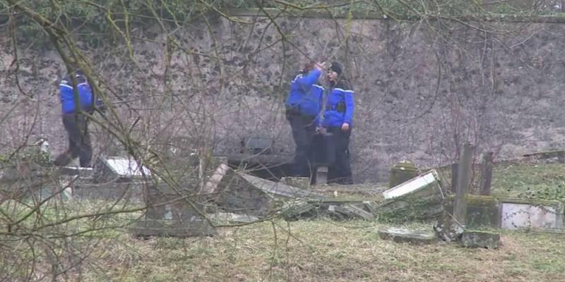
{"label": "person in blue jacket walking alone at far left", "polygon": [[84,73],[79,70],[66,75],[59,84],[59,94],[63,125],[69,135],[69,149],[60,154],[54,163],[56,166],[66,166],[79,157],[81,167],[90,167],[93,150],[85,114],[93,113],[95,103]]}

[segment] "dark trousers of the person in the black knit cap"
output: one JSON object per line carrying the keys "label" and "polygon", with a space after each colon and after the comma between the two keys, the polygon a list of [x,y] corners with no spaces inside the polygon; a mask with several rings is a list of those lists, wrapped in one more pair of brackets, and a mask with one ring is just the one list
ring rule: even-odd
{"label": "dark trousers of the person in the black knit cap", "polygon": [[332,142],[332,147],[335,150],[332,162],[328,167],[328,182],[351,184],[351,164],[349,154],[349,139],[351,136],[351,128],[347,131],[341,130],[341,127],[328,127],[327,133],[331,133],[328,142]]}

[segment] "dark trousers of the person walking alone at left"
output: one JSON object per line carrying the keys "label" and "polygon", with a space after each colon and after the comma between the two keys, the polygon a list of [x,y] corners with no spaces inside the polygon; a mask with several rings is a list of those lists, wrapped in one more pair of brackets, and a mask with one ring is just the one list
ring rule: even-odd
{"label": "dark trousers of the person walking alone at left", "polygon": [[88,121],[83,114],[64,114],[63,125],[69,135],[69,149],[55,159],[55,165],[66,166],[79,157],[82,167],[90,166],[93,149],[88,135]]}

